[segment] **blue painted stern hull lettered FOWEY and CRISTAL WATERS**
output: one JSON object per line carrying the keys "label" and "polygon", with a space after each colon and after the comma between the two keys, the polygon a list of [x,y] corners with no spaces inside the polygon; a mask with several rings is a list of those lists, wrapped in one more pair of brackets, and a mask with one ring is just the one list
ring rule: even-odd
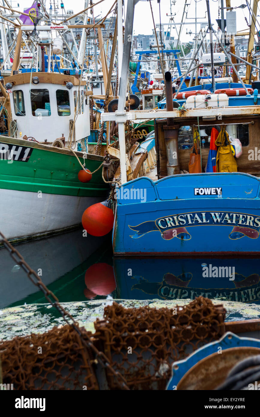
{"label": "blue painted stern hull lettered FOWEY and CRISTAL WATERS", "polygon": [[259,231],[260,178],[249,174],[140,177],[117,191],[115,255],[260,254]]}

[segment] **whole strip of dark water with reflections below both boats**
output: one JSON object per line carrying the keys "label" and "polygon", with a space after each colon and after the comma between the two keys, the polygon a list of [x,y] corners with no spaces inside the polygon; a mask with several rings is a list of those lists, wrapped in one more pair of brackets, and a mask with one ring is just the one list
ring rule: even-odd
{"label": "whole strip of dark water with reflections below both boats", "polygon": [[[101,246],[100,246],[101,245]],[[112,258],[111,235],[82,230],[17,245],[61,302],[94,299],[227,299],[260,304],[256,258]],[[0,249],[0,308],[46,299]]]}

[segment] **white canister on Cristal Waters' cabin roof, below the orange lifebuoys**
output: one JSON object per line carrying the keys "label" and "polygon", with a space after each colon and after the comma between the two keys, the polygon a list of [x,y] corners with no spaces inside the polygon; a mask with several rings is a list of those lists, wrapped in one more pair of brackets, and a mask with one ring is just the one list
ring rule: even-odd
{"label": "white canister on Cristal Waters' cabin roof, below the orange lifebuoys", "polygon": [[197,94],[190,95],[186,100],[186,108],[206,108],[228,106],[228,95],[220,94]]}

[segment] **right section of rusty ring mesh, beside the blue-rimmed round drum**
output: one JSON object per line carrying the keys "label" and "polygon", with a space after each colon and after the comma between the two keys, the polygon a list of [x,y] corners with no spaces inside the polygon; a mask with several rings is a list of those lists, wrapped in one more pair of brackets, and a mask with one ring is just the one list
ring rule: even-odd
{"label": "right section of rusty ring mesh, beside the blue-rimmed round drum", "polygon": [[[114,302],[95,322],[95,337],[130,389],[165,389],[173,362],[225,333],[225,313],[202,296],[175,309],[126,309]],[[106,372],[110,389],[118,389]]]}

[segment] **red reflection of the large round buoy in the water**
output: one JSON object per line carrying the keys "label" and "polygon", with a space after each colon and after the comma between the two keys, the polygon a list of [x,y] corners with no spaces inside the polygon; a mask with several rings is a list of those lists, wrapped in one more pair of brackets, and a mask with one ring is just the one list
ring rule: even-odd
{"label": "red reflection of the large round buoy in the water", "polygon": [[115,289],[113,267],[105,263],[91,265],[85,273],[85,284],[92,293],[97,295],[111,294]]}

